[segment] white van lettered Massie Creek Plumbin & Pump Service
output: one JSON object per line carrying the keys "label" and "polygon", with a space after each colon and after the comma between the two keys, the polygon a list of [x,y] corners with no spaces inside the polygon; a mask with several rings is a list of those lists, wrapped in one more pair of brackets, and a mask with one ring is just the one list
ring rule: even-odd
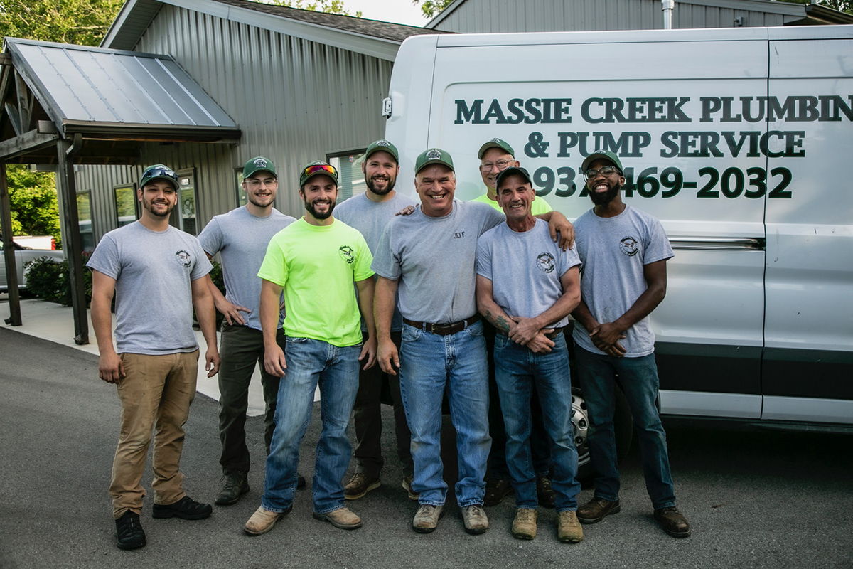
{"label": "white van lettered Massie Creek Plumbin & Pump Service", "polygon": [[484,193],[500,137],[574,219],[583,157],[620,156],[676,250],[662,414],[853,424],[853,26],[419,36],[384,108],[403,191],[438,147]]}

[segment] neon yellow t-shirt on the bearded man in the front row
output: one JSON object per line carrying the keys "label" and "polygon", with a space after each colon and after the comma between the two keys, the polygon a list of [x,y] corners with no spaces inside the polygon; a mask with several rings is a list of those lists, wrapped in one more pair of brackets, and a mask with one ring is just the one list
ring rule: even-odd
{"label": "neon yellow t-shirt on the bearded man in the front row", "polygon": [[338,347],[362,341],[353,282],[374,275],[373,256],[356,229],[338,219],[311,225],[300,218],[267,246],[258,276],[284,287],[284,333]]}

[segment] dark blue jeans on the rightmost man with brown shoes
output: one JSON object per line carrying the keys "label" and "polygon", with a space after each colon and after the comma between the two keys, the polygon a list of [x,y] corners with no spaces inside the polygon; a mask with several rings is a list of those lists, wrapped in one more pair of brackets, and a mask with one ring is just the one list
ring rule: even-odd
{"label": "dark blue jeans on the rightmost man with brown shoes", "polygon": [[613,412],[618,374],[628,400],[634,427],[640,439],[640,454],[646,490],[655,509],[676,505],[676,494],[666,451],[666,433],[658,407],[658,366],[654,354],[643,357],[612,357],[577,347],[575,363],[583,398],[589,412],[589,454],[595,467],[595,497],[619,499],[619,471],[616,466],[616,438]]}

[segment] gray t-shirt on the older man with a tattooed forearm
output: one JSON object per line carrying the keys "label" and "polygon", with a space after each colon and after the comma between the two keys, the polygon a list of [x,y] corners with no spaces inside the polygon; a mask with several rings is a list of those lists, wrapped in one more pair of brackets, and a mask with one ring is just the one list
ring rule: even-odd
{"label": "gray t-shirt on the older man with a tattooed forearm", "polygon": [[[563,251],[551,241],[542,219],[523,232],[500,224],[477,243],[477,274],[491,281],[492,298],[509,316],[533,318],[547,311],[563,295],[560,277],[579,264],[575,247]],[[566,316],[548,328],[568,322]]]}

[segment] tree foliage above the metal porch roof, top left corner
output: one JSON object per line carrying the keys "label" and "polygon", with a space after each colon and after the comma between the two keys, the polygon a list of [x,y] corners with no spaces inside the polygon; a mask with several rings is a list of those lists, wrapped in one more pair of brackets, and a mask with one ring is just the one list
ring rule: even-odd
{"label": "tree foliage above the metal porch roof, top left corner", "polygon": [[123,3],[124,0],[3,0],[0,35],[97,45]]}

